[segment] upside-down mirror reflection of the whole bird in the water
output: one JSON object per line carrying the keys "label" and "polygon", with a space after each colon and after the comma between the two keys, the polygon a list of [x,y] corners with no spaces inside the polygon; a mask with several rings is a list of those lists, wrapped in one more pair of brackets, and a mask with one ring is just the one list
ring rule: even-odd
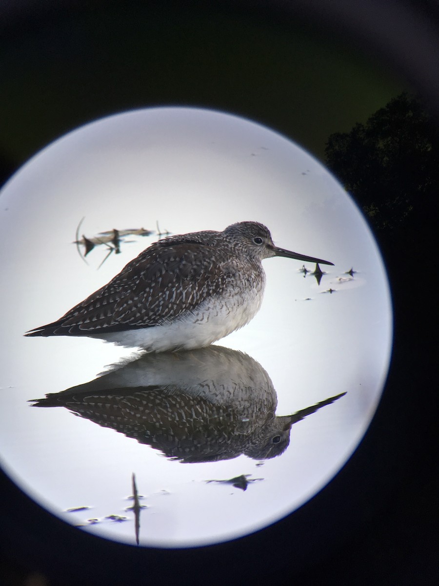
{"label": "upside-down mirror reflection of the whole bird in the water", "polygon": [[143,355],[33,403],[66,407],[187,463],[279,456],[291,425],[344,394],[277,417],[276,391],[262,366],[238,350],[210,346]]}

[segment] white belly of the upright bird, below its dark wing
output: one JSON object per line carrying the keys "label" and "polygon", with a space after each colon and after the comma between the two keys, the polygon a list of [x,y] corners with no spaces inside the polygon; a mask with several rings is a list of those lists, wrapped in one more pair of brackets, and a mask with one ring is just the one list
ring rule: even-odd
{"label": "white belly of the upright bird, below its dark wing", "polygon": [[259,311],[261,302],[262,292],[257,291],[247,295],[245,299],[241,295],[212,297],[193,311],[162,325],[96,333],[91,337],[126,347],[138,346],[149,352],[193,350],[208,346],[242,328]]}

